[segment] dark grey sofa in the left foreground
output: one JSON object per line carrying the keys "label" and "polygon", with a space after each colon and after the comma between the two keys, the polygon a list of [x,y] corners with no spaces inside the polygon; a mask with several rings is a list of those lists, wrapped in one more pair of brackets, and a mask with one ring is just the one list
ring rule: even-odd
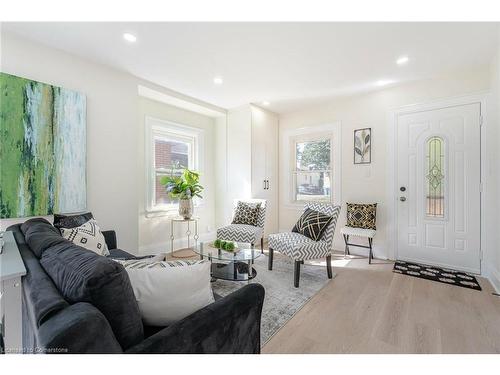
{"label": "dark grey sofa in the left foreground", "polygon": [[[244,286],[168,327],[144,326],[125,269],[65,240],[44,219],[13,225],[25,353],[259,353],[264,288]],[[110,257],[133,258],[104,232]]]}

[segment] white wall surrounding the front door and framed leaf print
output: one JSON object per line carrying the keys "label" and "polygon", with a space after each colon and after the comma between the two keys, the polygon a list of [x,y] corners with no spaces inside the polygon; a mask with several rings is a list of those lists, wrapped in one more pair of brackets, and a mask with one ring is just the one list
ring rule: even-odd
{"label": "white wall surrounding the front door and framed leaf print", "polygon": [[[342,124],[342,207],[341,220],[337,228],[345,225],[345,202],[377,202],[377,237],[374,241],[376,257],[387,257],[387,150],[388,150],[388,113],[398,107],[429,102],[433,99],[458,96],[488,90],[490,86],[489,69],[459,72],[448,77],[419,81],[385,90],[310,107],[280,117],[280,138],[290,129],[319,124]],[[357,128],[372,128],[372,163],[353,164],[353,131]],[[284,181],[284,160],[280,150],[280,181]],[[279,226],[290,230],[301,211],[286,207],[288,186],[280,188]],[[334,247],[343,250],[340,230],[336,230]],[[366,254],[364,249],[353,248],[353,252]]]}

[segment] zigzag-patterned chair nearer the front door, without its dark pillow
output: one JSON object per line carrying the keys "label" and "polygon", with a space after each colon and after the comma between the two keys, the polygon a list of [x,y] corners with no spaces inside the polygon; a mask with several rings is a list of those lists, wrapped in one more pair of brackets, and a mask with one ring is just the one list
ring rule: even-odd
{"label": "zigzag-patterned chair nearer the front door, without its dark pillow", "polygon": [[332,221],[318,241],[314,241],[300,233],[284,232],[269,235],[269,270],[273,269],[274,251],[278,251],[295,261],[294,286],[299,287],[300,265],[304,260],[326,257],[326,271],[328,278],[332,278],[332,244],[335,226],[340,213],[340,206],[330,203],[307,203],[304,211],[310,208],[325,215],[333,216]]}

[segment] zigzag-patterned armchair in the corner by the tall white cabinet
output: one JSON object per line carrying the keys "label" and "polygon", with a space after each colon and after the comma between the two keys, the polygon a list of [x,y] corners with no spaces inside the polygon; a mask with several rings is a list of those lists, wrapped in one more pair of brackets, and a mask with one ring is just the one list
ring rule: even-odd
{"label": "zigzag-patterned armchair in the corner by the tall white cabinet", "polygon": [[[225,241],[247,242],[255,245],[260,240],[260,249],[264,252],[264,223],[266,221],[266,200],[265,199],[245,199],[240,200],[245,203],[260,203],[260,210],[257,216],[257,226],[248,224],[229,224],[217,229],[217,238]],[[235,202],[235,209],[238,201]]]}

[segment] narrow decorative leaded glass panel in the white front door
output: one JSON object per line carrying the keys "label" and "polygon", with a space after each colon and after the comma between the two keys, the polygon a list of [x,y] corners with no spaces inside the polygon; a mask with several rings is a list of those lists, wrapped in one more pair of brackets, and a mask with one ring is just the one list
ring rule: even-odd
{"label": "narrow decorative leaded glass panel in the white front door", "polygon": [[431,137],[425,145],[425,206],[426,216],[444,218],[445,212],[445,142]]}

